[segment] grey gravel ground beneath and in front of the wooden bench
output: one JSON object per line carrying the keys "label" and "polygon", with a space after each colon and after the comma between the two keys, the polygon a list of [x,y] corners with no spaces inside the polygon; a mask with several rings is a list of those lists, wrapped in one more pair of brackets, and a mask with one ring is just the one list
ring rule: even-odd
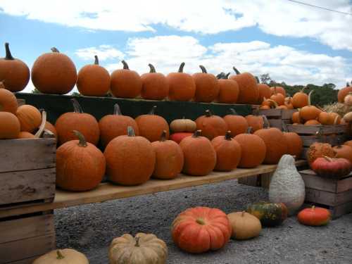
{"label": "grey gravel ground beneath and in front of the wooden bench", "polygon": [[172,243],[170,225],[182,210],[208,206],[231,213],[267,198],[264,189],[232,180],[56,210],[57,246],[82,251],[92,264],[106,264],[114,237],[153,232],[168,244],[168,263],[352,263],[352,213],[326,227],[306,227],[291,217],[279,227],[263,229],[256,239],[231,240],[220,251],[200,255],[184,253]]}

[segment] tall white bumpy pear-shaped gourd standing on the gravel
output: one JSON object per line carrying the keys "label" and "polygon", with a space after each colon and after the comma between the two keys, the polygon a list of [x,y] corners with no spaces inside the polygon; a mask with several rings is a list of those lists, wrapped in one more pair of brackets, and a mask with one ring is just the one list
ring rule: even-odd
{"label": "tall white bumpy pear-shaped gourd standing on the gravel", "polygon": [[289,215],[294,215],[302,206],[305,196],[305,185],[296,169],[294,157],[282,156],[270,182],[269,200],[272,203],[284,203]]}

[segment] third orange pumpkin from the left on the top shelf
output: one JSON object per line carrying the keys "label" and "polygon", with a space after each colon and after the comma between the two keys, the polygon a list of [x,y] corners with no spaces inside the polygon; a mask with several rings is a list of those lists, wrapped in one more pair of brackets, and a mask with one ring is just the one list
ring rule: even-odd
{"label": "third orange pumpkin from the left on the top shelf", "polygon": [[84,96],[105,96],[110,89],[110,74],[99,65],[98,56],[94,64],[85,65],[77,75],[77,89]]}

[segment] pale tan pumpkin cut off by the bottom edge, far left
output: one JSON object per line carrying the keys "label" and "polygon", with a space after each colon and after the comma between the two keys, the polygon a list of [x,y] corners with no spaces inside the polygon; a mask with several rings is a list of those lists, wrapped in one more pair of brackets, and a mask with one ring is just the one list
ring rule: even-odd
{"label": "pale tan pumpkin cut off by the bottom edge, far left", "polygon": [[56,249],[40,256],[32,264],[89,264],[84,254],[75,249]]}

